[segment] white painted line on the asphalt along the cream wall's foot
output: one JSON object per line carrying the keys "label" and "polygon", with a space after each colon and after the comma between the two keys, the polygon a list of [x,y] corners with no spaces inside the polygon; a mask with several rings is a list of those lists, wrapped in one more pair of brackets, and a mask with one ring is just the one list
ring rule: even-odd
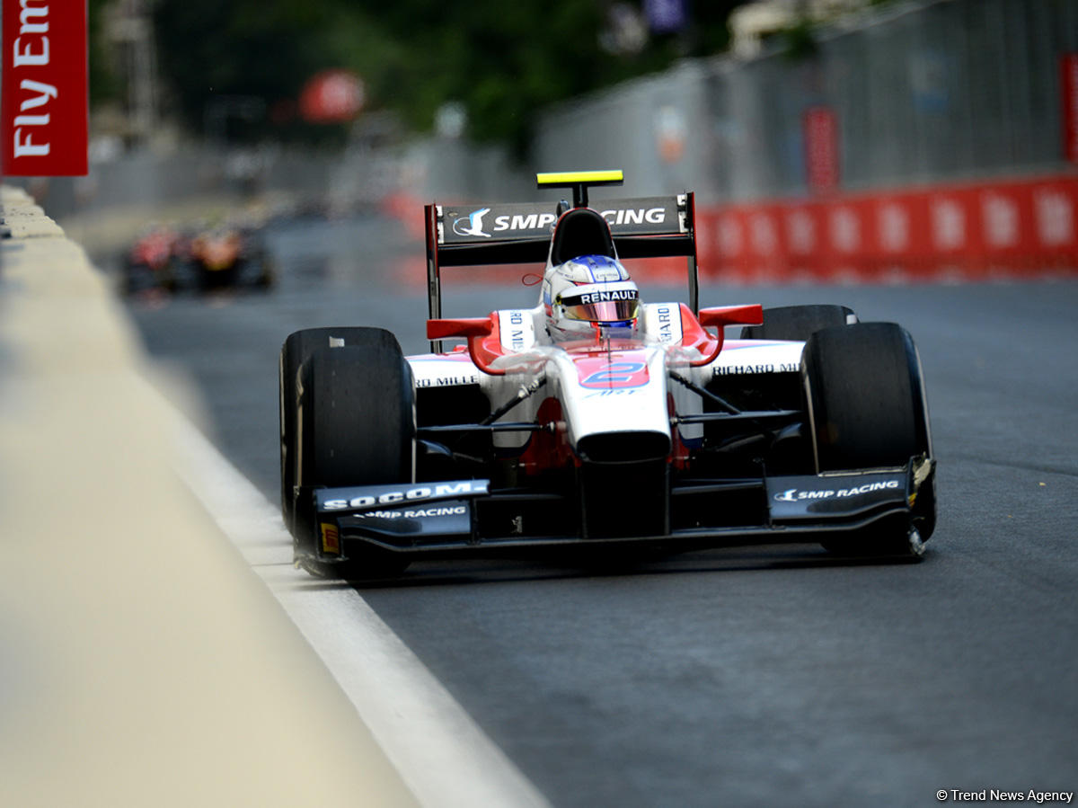
{"label": "white painted line on the asphalt along the cream wall's foot", "polygon": [[186,484],[280,601],[424,806],[550,804],[355,589],[292,567],[292,539],[254,485],[171,405]]}

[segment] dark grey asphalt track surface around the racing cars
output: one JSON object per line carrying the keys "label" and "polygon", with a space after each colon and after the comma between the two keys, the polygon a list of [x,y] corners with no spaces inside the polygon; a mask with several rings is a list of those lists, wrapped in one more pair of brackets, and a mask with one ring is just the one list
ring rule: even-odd
{"label": "dark grey asphalt track surface around the racing cars", "polygon": [[[201,391],[212,441],[276,502],[285,337],[376,325],[424,351],[426,299],[421,245],[387,222],[281,225],[272,246],[266,295],[130,312],[151,355]],[[457,288],[447,314],[536,295]],[[837,561],[814,545],[606,571],[428,562],[363,598],[558,807],[1075,791],[1078,279],[705,287],[701,301],[843,303],[911,331],[939,460],[922,563]]]}

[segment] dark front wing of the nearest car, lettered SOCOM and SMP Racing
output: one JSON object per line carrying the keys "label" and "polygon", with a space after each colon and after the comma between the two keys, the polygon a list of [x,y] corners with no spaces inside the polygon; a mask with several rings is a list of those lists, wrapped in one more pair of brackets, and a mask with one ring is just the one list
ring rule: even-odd
{"label": "dark front wing of the nearest car, lettered SOCOM and SMP Racing", "polygon": [[[492,489],[488,480],[319,489],[313,492],[316,552],[319,561],[334,562],[362,545],[420,557],[599,544],[685,549],[814,542],[884,521],[909,522],[932,473],[931,461],[911,460],[888,469],[675,484],[671,529],[644,536],[589,537],[571,495]],[[702,510],[701,502],[715,506]],[[692,517],[680,519],[681,511]]]}

